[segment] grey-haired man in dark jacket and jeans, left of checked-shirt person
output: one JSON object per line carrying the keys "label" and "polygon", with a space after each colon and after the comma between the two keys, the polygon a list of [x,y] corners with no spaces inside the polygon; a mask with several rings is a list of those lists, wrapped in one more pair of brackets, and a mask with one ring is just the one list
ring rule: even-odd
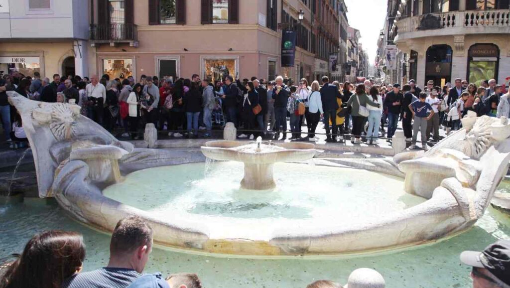
{"label": "grey-haired man in dark jacket and jeans, left of checked-shirt person", "polygon": [[284,84],[282,76],[276,77],[276,85],[273,88],[272,98],[274,99],[274,115],[276,118],[276,135],[278,140],[280,133],[283,134],[282,141],[287,139],[287,100],[290,97],[290,89]]}

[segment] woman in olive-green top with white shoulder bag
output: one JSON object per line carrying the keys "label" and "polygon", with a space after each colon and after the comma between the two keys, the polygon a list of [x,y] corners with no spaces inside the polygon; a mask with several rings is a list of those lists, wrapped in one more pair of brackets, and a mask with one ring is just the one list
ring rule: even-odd
{"label": "woman in olive-green top with white shoulder bag", "polygon": [[369,115],[367,104],[377,108],[381,106],[379,103],[368,98],[365,93],[365,85],[359,84],[356,86],[354,95],[347,102],[347,106],[352,107],[352,135],[354,135],[354,139],[351,138],[352,143],[361,144],[361,132]]}

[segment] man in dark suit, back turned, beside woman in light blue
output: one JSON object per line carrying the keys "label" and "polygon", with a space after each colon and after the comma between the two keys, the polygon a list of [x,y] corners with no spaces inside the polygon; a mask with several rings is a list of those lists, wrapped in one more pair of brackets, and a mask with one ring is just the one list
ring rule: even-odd
{"label": "man in dark suit, back turned, beside woman in light blue", "polygon": [[[365,89],[365,87],[363,87],[363,89]],[[356,91],[358,91],[358,89],[356,89]],[[337,98],[341,98],[342,95],[335,85],[329,84],[329,78],[327,76],[322,77],[322,88],[320,88],[320,96],[322,100],[322,109],[324,110],[326,142],[336,142],[337,136],[331,133],[337,133]],[[329,126],[329,121],[331,121],[331,126]]]}

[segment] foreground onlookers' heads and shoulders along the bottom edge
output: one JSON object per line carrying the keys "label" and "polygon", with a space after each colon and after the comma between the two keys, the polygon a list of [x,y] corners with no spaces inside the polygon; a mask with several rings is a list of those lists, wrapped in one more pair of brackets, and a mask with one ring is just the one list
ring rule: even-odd
{"label": "foreground onlookers' heads and shoulders along the bottom edge", "polygon": [[[121,219],[112,233],[110,259],[103,268],[82,272],[87,249],[77,232],[45,231],[33,236],[21,254],[0,263],[0,288],[201,288],[194,273],[143,273],[152,252],[153,230],[136,216]],[[498,241],[482,252],[465,251],[461,262],[472,267],[475,288],[510,287],[510,242]],[[364,271],[368,270],[368,271]],[[307,288],[341,288],[319,280]],[[346,287],[384,288],[382,276],[373,270],[358,269]]]}

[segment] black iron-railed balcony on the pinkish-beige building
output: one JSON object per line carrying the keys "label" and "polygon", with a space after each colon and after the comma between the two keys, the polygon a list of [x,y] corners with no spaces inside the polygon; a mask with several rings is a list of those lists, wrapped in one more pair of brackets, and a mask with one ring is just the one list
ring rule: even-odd
{"label": "black iron-railed balcony on the pinkish-beige building", "polygon": [[92,47],[100,43],[109,43],[115,46],[127,43],[138,47],[138,30],[134,24],[91,24],[90,42]]}

